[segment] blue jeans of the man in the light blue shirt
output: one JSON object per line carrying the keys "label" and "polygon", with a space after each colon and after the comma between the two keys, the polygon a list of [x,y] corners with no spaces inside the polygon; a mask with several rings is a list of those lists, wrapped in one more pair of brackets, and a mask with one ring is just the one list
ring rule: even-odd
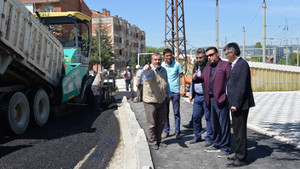
{"label": "blue jeans of the man in the light blue shirt", "polygon": [[[171,95],[171,101],[173,104],[173,113],[174,113],[174,120],[175,120],[175,134],[180,134],[180,93],[173,93]],[[170,113],[170,103],[167,103],[167,119],[165,123],[164,133],[170,132],[170,120],[169,120],[169,113]]]}

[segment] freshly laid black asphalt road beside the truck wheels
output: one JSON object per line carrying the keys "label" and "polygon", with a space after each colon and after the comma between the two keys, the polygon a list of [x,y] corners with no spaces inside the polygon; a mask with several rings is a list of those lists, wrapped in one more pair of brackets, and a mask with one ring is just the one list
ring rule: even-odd
{"label": "freshly laid black asphalt road beside the truck wheels", "polygon": [[78,108],[22,135],[0,136],[0,168],[69,169],[91,150],[81,169],[104,168],[120,141],[116,107],[113,103],[101,113]]}

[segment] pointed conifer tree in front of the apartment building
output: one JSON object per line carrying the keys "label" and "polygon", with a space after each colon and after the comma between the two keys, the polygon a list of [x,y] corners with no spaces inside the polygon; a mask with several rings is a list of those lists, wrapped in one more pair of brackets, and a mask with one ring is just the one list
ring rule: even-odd
{"label": "pointed conifer tree in front of the apartment building", "polygon": [[[92,37],[92,47],[91,47],[91,55],[90,55],[90,66],[93,66],[97,63],[100,63],[99,59],[99,33],[101,39],[101,64],[105,69],[109,69],[109,67],[114,63],[114,53],[113,46],[111,44],[111,40],[107,36],[107,32],[101,25],[101,20],[99,19],[97,36]],[[100,32],[99,32],[100,30]]]}

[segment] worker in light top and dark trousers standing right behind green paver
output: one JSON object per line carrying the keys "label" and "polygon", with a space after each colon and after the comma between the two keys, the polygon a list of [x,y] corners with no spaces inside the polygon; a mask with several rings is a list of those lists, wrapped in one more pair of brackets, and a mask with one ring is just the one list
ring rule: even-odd
{"label": "worker in light top and dark trousers standing right behind green paver", "polygon": [[92,83],[91,90],[94,95],[94,108],[96,111],[101,111],[101,87],[102,80],[107,76],[107,69],[103,69],[102,72],[96,74],[95,79]]}

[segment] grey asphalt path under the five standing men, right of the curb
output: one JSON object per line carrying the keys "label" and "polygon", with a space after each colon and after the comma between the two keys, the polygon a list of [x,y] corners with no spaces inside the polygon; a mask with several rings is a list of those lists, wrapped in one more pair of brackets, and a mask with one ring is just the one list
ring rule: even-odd
{"label": "grey asphalt path under the five standing men, right of the curb", "polygon": [[[143,103],[133,103],[131,109],[135,112],[140,126],[146,132],[146,118]],[[186,124],[191,118],[192,106],[181,99],[181,124]],[[174,121],[170,114],[170,121]],[[205,123],[205,121],[203,121]],[[182,126],[182,125],[181,125]],[[205,126],[205,125],[204,125]],[[174,123],[171,123],[171,133],[174,132]],[[217,153],[204,151],[204,142],[189,144],[193,139],[193,130],[181,127],[183,138],[178,140],[174,136],[164,139],[168,145],[159,150],[150,150],[154,167],[159,168],[226,168],[227,160],[218,158]],[[206,133],[204,133],[205,135]],[[204,136],[202,136],[204,137]],[[234,139],[232,135],[232,150]],[[300,150],[290,144],[275,140],[269,136],[248,129],[248,166],[242,168],[299,168]]]}

